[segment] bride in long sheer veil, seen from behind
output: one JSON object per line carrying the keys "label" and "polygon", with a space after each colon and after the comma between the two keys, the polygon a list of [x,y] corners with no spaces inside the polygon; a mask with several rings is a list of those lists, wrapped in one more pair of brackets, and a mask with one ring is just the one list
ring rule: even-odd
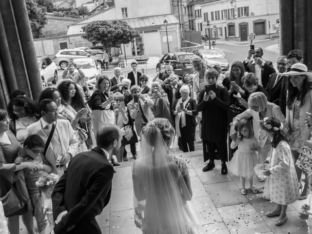
{"label": "bride in long sheer veil, seen from behind", "polygon": [[174,128],[156,118],[143,129],[141,157],[132,169],[135,223],[143,234],[202,234],[188,202],[192,188],[187,163],[169,154]]}

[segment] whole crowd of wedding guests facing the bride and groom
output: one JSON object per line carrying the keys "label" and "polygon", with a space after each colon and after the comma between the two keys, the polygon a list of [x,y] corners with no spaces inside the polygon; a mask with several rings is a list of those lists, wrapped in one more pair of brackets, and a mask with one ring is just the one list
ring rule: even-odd
{"label": "whole crowd of wedding guests facing the bride and groom", "polygon": [[[202,170],[213,170],[215,160],[221,160],[226,175],[231,160],[229,170],[240,176],[241,193],[246,195],[249,180],[253,193],[264,192],[277,204],[267,215],[278,215],[276,225],[282,225],[287,205],[307,198],[308,174],[304,171],[300,194],[302,169],[294,163],[311,137],[305,113],[312,112],[312,73],[300,50],[280,56],[278,72],[262,56],[260,47],[249,50],[226,74],[220,66],[207,69],[199,57],[192,60],[194,74],[182,77],[173,66],[161,66],[150,86],[133,62],[126,78],[119,67],[113,78],[99,76],[92,94],[84,74],[70,62],[63,79],[44,89],[38,100],[20,90],[11,93],[7,110],[0,110],[0,197],[15,191],[22,204],[2,201],[10,233],[19,233],[19,215],[29,234],[36,233],[33,215],[39,233],[44,232],[44,202],[35,182],[49,173],[61,176],[71,158],[96,146],[101,126],[115,124],[122,132],[121,146],[109,158],[118,166],[128,160],[126,145],[137,158],[142,130],[158,117],[174,127],[183,152],[195,151],[198,127],[208,161]],[[254,167],[262,163],[268,164],[264,190],[253,186]]]}

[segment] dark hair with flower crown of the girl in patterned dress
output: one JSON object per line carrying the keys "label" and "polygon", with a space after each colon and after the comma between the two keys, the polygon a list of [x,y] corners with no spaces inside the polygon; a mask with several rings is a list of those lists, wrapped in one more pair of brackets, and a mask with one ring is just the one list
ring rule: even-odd
{"label": "dark hair with flower crown of the girl in patterned dress", "polygon": [[282,123],[277,118],[274,118],[274,117],[265,119],[263,124],[261,124],[261,128],[263,130],[273,133],[273,140],[272,140],[273,148],[276,148],[276,146],[281,140],[285,140],[286,142],[288,142],[287,136],[283,132],[281,126],[282,126]]}

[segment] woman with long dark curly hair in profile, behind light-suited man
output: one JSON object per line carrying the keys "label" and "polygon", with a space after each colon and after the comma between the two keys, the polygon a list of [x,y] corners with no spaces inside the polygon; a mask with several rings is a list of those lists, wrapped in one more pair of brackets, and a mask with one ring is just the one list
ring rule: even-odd
{"label": "woman with long dark curly hair in profile, behind light-suited man", "polygon": [[[59,93],[61,95],[61,103],[63,110],[58,110],[64,113],[64,116],[73,123],[72,127],[75,130],[75,135],[79,139],[79,149],[77,153],[88,150],[86,146],[87,131],[82,128],[82,125],[87,121],[89,110],[84,107],[83,98],[78,91],[77,85],[71,80],[64,80],[59,83]],[[91,124],[91,121],[90,121]],[[86,127],[86,126],[85,126]],[[89,147],[91,148],[91,146]]]}

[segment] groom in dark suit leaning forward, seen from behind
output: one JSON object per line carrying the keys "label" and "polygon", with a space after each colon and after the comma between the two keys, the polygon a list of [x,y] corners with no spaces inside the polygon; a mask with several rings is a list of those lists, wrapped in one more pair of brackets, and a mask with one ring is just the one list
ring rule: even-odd
{"label": "groom in dark suit leaning forward, seen from behind", "polygon": [[107,158],[117,155],[121,138],[117,125],[105,124],[98,147],[70,160],[52,193],[55,234],[101,234],[95,217],[109,202],[114,175]]}

